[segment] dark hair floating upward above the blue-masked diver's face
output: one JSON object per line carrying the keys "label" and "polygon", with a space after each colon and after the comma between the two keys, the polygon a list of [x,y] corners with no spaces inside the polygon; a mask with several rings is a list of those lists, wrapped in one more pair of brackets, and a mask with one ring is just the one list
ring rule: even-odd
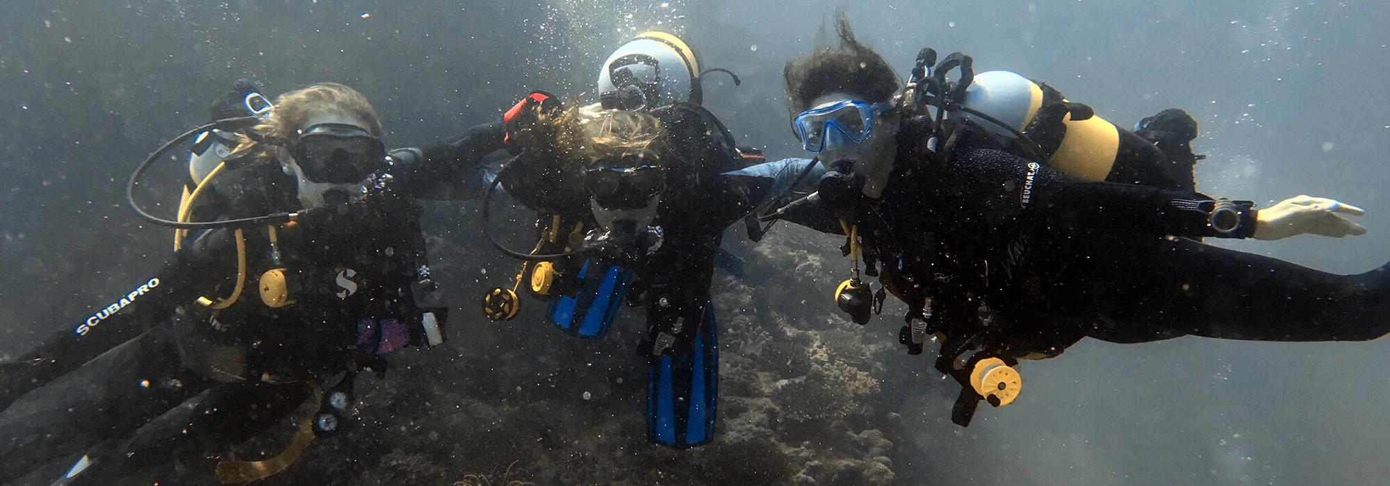
{"label": "dark hair floating upward above the blue-masked diver's face", "polygon": [[898,74],[888,61],[869,46],[855,39],[844,10],[837,10],[833,44],[824,43],[824,26],[817,36],[816,49],[805,56],[787,61],[783,76],[787,81],[787,108],[792,117],[810,108],[810,101],[819,96],[845,92],[863,96],[869,103],[891,99],[902,89]]}

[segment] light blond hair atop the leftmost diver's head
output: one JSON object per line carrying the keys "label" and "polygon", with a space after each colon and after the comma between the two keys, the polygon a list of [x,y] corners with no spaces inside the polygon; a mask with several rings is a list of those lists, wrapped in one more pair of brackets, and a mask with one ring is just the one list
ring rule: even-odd
{"label": "light blond hair atop the leftmost diver's head", "polygon": [[270,117],[252,126],[252,136],[239,136],[240,143],[232,151],[232,157],[242,154],[274,156],[278,147],[284,147],[297,137],[296,131],[303,128],[310,118],[331,111],[346,112],[367,124],[363,128],[373,136],[381,137],[384,133],[377,110],[356,89],[339,83],[313,83],[277,97],[275,108]]}

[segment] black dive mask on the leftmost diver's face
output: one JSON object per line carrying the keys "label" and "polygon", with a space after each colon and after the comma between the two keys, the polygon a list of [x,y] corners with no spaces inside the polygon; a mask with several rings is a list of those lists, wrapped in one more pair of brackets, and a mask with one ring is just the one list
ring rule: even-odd
{"label": "black dive mask on the leftmost diver's face", "polygon": [[304,178],[313,182],[350,183],[381,169],[386,149],[381,139],[359,126],[320,124],[300,131],[293,156]]}

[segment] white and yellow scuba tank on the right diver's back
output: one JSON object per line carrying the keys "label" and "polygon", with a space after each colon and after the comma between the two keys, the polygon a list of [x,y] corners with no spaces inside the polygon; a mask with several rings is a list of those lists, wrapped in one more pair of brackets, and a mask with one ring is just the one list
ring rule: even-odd
{"label": "white and yellow scuba tank on the right diver's back", "polygon": [[[1058,126],[1041,126],[1042,124],[1056,124],[1054,119],[1038,117],[1044,111],[1042,107],[1065,101],[1068,100],[1062,99],[1061,93],[1044,89],[1019,74],[987,71],[974,75],[974,81],[966,87],[962,104],[990,114],[998,121],[1012,125],[1013,129],[1034,137],[1048,157],[1044,161],[1048,165],[1084,181],[1105,181],[1120,154],[1120,128],[1101,117],[1072,119],[1072,114],[1062,117],[1061,122],[1065,125],[1062,131],[1058,131]],[[952,112],[949,117],[969,115]],[[1013,136],[992,122],[970,119],[995,135]],[[1036,136],[1040,132],[1061,133],[1061,139]]]}

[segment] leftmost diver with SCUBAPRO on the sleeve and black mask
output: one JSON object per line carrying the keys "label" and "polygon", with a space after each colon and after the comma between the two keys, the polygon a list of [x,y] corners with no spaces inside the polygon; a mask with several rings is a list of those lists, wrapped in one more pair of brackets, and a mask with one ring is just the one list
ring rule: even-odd
{"label": "leftmost diver with SCUBAPRO on the sleeve and black mask", "polygon": [[[250,99],[245,87],[228,96]],[[179,221],[146,212],[133,197],[142,172],[217,131],[235,149],[185,197]],[[316,436],[353,426],[356,374],[384,374],[386,353],[445,337],[446,310],[418,303],[434,282],[414,200],[477,194],[481,154],[467,146],[500,137],[470,132],[388,156],[381,135],[360,93],[318,83],[152,154],[132,175],[131,204],[186,233],[156,278],[0,367],[0,407],[88,374],[64,385],[58,404],[0,425],[0,480],[81,457],[60,482],[104,483],[171,455],[224,453],[293,418],[284,453],[224,455],[215,468],[222,482],[249,482],[288,468]],[[221,194],[221,214],[190,221],[207,192]],[[172,424],[156,421],[171,410]]]}

